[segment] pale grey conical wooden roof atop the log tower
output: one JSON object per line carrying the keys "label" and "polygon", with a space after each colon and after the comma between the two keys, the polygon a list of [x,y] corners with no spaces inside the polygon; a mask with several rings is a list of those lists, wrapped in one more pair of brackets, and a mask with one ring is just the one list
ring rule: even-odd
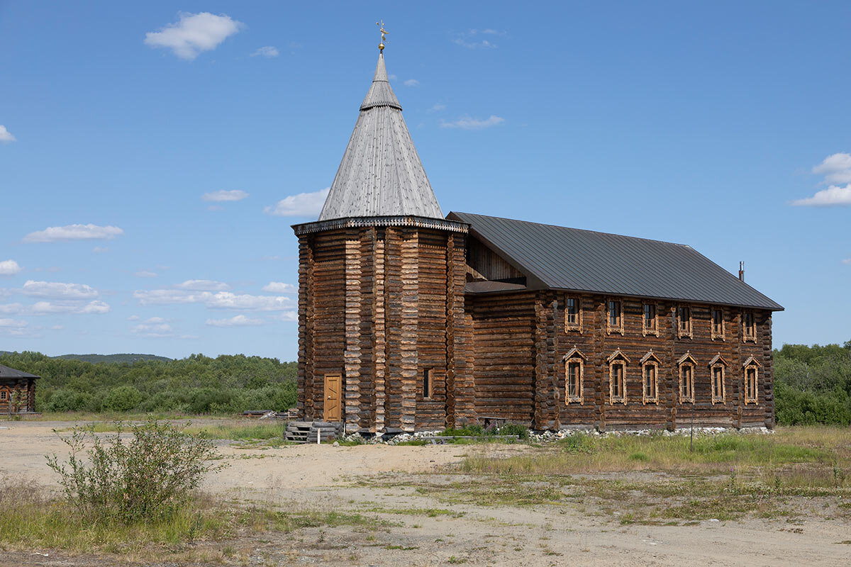
{"label": "pale grey conical wooden roof atop the log tower", "polygon": [[443,218],[380,54],[319,220],[396,215]]}

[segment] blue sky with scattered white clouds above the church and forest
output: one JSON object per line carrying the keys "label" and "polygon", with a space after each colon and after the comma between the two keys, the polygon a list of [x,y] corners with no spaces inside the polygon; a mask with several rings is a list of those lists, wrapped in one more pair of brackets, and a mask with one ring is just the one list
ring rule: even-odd
{"label": "blue sky with scattered white clouds above the church and forest", "polygon": [[851,339],[851,4],[517,6],[0,2],[0,350],[293,360],[379,19],[444,213],[745,260],[778,346]]}

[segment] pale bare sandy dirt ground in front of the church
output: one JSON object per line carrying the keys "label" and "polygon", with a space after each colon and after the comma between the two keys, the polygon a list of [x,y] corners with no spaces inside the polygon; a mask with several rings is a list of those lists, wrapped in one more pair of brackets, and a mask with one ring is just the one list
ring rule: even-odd
{"label": "pale bare sandy dirt ground in front of the church", "polygon": [[[64,452],[65,445],[53,428],[68,426],[0,422],[0,476],[20,476],[38,485],[55,486],[54,473],[43,455]],[[529,451],[526,445],[240,448],[222,442],[220,451],[231,466],[207,479],[203,490],[228,500],[261,502],[285,510],[363,513],[392,524],[372,531],[351,526],[304,528],[288,535],[232,542],[241,564],[851,564],[851,526],[816,515],[794,524],[786,519],[710,519],[680,525],[621,525],[608,514],[570,502],[482,506],[447,502],[421,488],[445,482],[446,466],[460,462],[470,451]],[[453,478],[454,482],[486,481]],[[528,490],[536,488],[528,486]],[[199,552],[156,564],[219,564],[204,557]],[[45,549],[0,553],[0,565],[90,564],[150,563]]]}

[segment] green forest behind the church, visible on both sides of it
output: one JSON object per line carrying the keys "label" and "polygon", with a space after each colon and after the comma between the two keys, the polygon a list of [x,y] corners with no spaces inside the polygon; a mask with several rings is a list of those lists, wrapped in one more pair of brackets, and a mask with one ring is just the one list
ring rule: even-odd
{"label": "green forest behind the church, visible on both sides of it", "polygon": [[[285,411],[296,401],[295,362],[243,354],[97,363],[71,356],[2,353],[0,364],[42,377],[37,411],[229,414]],[[774,382],[778,423],[851,425],[851,341],[775,349]]]}

